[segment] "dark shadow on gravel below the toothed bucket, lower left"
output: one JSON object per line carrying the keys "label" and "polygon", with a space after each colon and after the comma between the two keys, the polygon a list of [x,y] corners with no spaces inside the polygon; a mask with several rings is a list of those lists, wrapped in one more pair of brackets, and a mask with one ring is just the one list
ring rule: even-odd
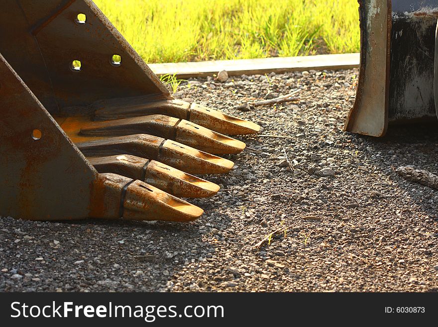
{"label": "dark shadow on gravel below the toothed bucket, lower left", "polygon": [[[196,223],[1,218],[0,291],[166,291],[212,257]],[[190,258],[190,259],[188,259]]]}

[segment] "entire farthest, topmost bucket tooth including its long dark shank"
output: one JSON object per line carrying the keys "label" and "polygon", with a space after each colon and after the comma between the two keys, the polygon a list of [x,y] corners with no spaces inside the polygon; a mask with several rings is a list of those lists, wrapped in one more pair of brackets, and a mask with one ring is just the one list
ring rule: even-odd
{"label": "entire farthest, topmost bucket tooth including its long dark shank", "polygon": [[221,134],[255,134],[260,130],[260,126],[251,121],[185,101],[167,100],[143,104],[136,102],[140,101],[128,99],[96,103],[92,106],[96,110],[95,120],[112,120],[162,113],[189,120]]}

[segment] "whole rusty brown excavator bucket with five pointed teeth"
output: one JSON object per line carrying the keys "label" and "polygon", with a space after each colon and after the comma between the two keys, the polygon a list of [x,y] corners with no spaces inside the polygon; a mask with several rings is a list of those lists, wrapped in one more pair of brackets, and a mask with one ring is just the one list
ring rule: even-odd
{"label": "whole rusty brown excavator bucket with five pointed teeth", "polygon": [[91,0],[3,0],[0,215],[190,221],[250,121],[175,100]]}

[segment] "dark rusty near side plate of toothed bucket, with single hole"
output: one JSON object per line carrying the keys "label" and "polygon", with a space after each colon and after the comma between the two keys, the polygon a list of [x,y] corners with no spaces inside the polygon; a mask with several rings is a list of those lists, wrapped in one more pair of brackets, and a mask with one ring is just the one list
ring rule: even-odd
{"label": "dark rusty near side plate of toothed bucket, with single hole", "polygon": [[0,55],[0,215],[89,215],[97,171]]}

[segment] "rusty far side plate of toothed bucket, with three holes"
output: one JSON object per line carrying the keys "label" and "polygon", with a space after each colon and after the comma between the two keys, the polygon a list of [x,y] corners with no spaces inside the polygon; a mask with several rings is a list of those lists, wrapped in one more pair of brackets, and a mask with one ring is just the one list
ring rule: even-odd
{"label": "rusty far side plate of toothed bucket, with three holes", "polygon": [[[2,0],[0,52],[52,114],[97,100],[171,96],[91,0]],[[85,14],[85,23],[77,21]],[[121,64],[111,64],[113,55]],[[72,69],[74,60],[81,70]]]}

